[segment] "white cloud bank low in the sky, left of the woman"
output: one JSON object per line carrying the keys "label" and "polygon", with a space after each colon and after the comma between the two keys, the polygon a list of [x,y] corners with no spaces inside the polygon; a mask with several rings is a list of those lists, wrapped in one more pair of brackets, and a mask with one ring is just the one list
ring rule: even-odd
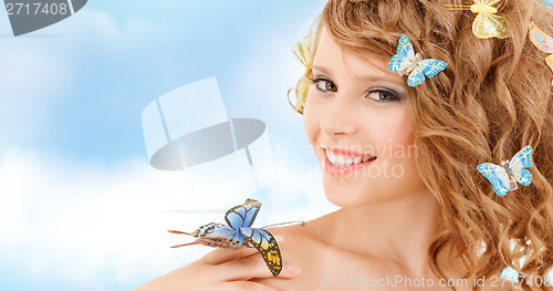
{"label": "white cloud bank low in the sky, left of the woman", "polygon": [[[328,209],[316,174],[289,173],[282,166],[275,172],[271,185],[282,196],[271,200],[285,206],[303,197],[309,204],[265,205],[255,226],[314,218],[321,215],[319,205]],[[0,159],[0,260],[24,266],[31,279],[80,290],[143,283],[211,250],[170,249],[191,240],[166,230],[225,221],[222,212],[167,212],[182,207],[186,188],[181,172],[155,170],[140,159],[108,167],[6,150]]]}

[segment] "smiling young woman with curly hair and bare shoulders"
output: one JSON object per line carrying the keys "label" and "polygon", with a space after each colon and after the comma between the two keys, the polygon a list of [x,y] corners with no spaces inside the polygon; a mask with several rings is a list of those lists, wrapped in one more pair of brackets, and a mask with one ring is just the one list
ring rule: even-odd
{"label": "smiling young woman with curly hair and bare shoulders", "polygon": [[[529,40],[530,22],[553,32],[553,13],[476,2],[497,12],[330,0],[302,48],[294,107],[341,209],[271,229],[278,277],[253,248],[216,249],[136,290],[553,290],[553,74]],[[495,34],[477,37],[474,21]],[[419,55],[392,71],[407,76],[390,71],[405,39]],[[428,59],[447,66],[422,61],[436,70],[420,80]],[[525,146],[531,184],[499,196],[477,167]],[[507,267],[520,284],[500,278]]]}

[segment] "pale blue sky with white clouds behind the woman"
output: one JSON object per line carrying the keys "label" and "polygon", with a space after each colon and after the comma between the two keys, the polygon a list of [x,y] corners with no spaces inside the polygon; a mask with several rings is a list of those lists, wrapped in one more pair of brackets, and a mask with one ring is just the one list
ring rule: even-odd
{"label": "pale blue sky with white clouds behind the woman", "polygon": [[148,165],[140,124],[148,103],[210,76],[229,117],[267,124],[275,175],[255,225],[335,209],[286,101],[303,72],[290,46],[323,4],[95,0],[18,38],[0,13],[1,289],[131,290],[210,250],[169,249],[186,239],[167,229],[223,218],[167,212],[187,187]]}

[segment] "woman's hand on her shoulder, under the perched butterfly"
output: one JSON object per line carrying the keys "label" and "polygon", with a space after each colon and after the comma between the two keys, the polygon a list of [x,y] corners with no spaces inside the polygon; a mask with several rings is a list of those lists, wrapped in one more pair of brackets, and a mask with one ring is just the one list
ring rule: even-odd
{"label": "woman's hand on her shoulder, under the perched butterfly", "polygon": [[[280,236],[275,237],[278,241],[282,241]],[[293,278],[298,273],[300,268],[284,262],[278,278]],[[249,281],[272,277],[258,250],[242,246],[238,249],[216,249],[199,260],[154,279],[134,291],[276,291]]]}

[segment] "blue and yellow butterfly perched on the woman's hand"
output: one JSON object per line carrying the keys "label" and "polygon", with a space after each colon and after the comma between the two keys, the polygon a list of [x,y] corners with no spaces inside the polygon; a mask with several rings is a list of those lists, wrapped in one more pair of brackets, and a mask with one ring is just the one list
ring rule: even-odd
{"label": "blue and yellow butterfly perched on the woman's hand", "polygon": [[282,256],[273,235],[261,228],[250,228],[258,216],[261,202],[247,199],[244,204],[230,208],[225,215],[228,226],[207,224],[194,232],[168,230],[171,233],[189,235],[197,240],[190,243],[173,246],[179,248],[191,245],[204,245],[215,248],[240,248],[246,241],[250,242],[263,257],[267,267],[273,276],[282,270]]}

